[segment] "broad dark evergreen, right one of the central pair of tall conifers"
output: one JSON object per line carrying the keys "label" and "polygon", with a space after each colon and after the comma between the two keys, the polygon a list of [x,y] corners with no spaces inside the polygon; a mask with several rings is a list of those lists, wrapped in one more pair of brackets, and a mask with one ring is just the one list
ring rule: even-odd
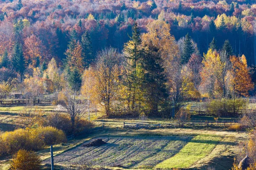
{"label": "broad dark evergreen, right one of the central pair of tall conifers", "polygon": [[144,69],[143,97],[146,108],[151,115],[159,110],[160,103],[166,101],[168,94],[166,90],[167,79],[162,67],[162,59],[159,49],[152,43],[148,45],[143,53],[142,68]]}

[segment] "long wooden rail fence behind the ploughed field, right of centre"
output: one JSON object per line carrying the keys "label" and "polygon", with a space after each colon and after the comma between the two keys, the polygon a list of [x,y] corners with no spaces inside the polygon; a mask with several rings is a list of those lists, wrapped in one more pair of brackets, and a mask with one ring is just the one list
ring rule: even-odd
{"label": "long wooden rail fence behind the ploughed field, right of centre", "polygon": [[199,122],[199,121],[179,121],[179,122],[170,122],[170,123],[159,123],[159,124],[143,124],[143,123],[127,123],[124,122],[125,127],[131,128],[149,128],[149,127],[194,127],[194,126],[204,126],[204,127],[212,127],[212,126],[230,126],[238,124],[237,122]]}

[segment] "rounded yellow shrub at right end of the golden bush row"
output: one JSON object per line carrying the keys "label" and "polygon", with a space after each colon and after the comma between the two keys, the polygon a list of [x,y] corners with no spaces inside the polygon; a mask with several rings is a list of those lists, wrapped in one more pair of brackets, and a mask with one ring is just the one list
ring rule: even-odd
{"label": "rounded yellow shrub at right end of the golden bush row", "polygon": [[41,139],[46,145],[58,144],[67,141],[65,133],[55,127],[38,128],[37,134],[39,139]]}

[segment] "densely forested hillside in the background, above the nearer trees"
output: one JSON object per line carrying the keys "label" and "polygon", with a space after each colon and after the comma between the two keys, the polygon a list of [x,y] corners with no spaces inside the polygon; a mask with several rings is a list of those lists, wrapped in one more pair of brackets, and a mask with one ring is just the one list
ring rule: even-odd
{"label": "densely forested hillside in the background, above the nearer trees", "polygon": [[[201,55],[215,37],[218,49],[229,40],[234,54],[244,54],[248,65],[256,63],[256,5],[251,0],[2,0],[0,4],[0,54],[7,50],[11,55],[18,41],[26,65],[48,63],[52,57],[63,62],[73,30],[79,41],[84,35],[90,44],[92,55],[86,60],[105,47],[121,51],[135,21],[146,32],[146,25],[157,19],[169,23],[176,41],[189,33]],[[33,54],[28,48],[34,49]]]}

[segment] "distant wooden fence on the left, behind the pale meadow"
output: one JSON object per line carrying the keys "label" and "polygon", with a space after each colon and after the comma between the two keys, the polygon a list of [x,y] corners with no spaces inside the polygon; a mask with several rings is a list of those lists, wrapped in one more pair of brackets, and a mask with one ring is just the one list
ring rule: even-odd
{"label": "distant wooden fence on the left, behind the pale meadow", "polygon": [[0,101],[0,106],[20,106],[20,105],[51,105],[52,100],[29,100],[29,99],[12,99]]}

